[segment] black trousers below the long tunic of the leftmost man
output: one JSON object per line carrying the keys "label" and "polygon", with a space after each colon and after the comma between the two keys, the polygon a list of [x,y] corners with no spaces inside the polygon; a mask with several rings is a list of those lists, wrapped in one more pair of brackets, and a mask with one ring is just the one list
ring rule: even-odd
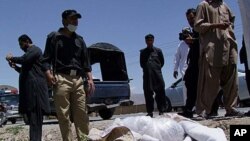
{"label": "black trousers below the long tunic of the leftmost man", "polygon": [[41,141],[42,139],[42,125],[43,125],[43,114],[42,110],[36,108],[27,113],[29,120],[29,134],[30,141]]}

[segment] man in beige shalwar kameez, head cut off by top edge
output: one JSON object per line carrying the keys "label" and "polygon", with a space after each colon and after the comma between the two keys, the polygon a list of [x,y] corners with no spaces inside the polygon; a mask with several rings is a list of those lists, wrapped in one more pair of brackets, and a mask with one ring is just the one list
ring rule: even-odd
{"label": "man in beige shalwar kameez, head cut off by top edge", "polygon": [[196,113],[206,116],[223,89],[225,116],[241,116],[237,103],[237,44],[234,15],[223,0],[202,1],[197,7],[194,29],[200,33],[200,62]]}

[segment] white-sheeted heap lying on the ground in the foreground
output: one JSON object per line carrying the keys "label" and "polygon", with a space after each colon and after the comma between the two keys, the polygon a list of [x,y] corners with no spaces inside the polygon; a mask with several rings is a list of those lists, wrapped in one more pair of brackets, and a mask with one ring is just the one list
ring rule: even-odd
{"label": "white-sheeted heap lying on the ground in the foreground", "polygon": [[226,141],[222,129],[209,128],[176,114],[117,118],[104,131],[91,130],[88,137],[94,141]]}

